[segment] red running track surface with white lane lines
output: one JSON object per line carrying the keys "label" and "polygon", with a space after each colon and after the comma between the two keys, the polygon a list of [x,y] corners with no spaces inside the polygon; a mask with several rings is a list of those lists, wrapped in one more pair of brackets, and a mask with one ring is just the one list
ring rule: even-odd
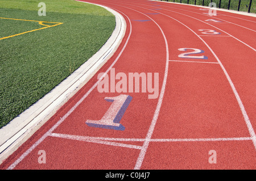
{"label": "red running track surface with white lane lines", "polygon": [[[234,23],[236,33],[226,23],[205,22],[213,18],[197,7],[88,2],[111,7],[127,23],[122,44],[98,73],[159,73],[159,97],[125,93],[132,100],[121,119],[124,131],[88,127],[86,120],[108,110],[104,98],[120,94],[99,93],[97,73],[1,169],[255,169],[256,54],[248,38],[255,28],[247,26],[255,18],[215,17]],[[180,56],[188,48],[204,52]],[[39,150],[46,151],[46,164],[38,163]],[[210,150],[216,164],[208,162]]]}

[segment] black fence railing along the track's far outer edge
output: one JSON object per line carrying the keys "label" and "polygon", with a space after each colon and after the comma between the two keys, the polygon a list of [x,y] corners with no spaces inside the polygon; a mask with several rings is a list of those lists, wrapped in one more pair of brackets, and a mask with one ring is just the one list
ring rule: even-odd
{"label": "black fence railing along the track's far outer edge", "polygon": [[216,7],[228,10],[246,11],[256,13],[256,0],[160,0],[191,5],[209,6],[209,3],[216,3]]}

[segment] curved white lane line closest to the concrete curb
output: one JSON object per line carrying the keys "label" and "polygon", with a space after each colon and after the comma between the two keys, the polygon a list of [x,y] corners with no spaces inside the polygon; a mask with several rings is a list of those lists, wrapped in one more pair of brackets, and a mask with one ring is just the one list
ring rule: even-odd
{"label": "curved white lane line closest to the concrete curb", "polygon": [[[121,12],[121,11],[119,11]],[[121,12],[122,13],[122,12]],[[123,14],[123,13],[122,13]],[[125,14],[123,14],[125,15]],[[125,15],[126,16],[126,15]],[[98,81],[90,88],[90,90],[88,92],[86,92],[86,94],[84,96],[82,96],[82,98],[75,104],[75,106],[73,106],[71,108],[71,110],[69,110],[63,117],[61,117],[61,119],[59,121],[57,121],[57,123],[55,125],[53,125],[53,127],[51,129],[49,129],[49,131],[47,131],[38,141],[35,142],[35,144],[33,144],[28,150],[26,150],[12,165],[10,165],[8,167],[7,170],[12,170],[15,168],[16,165],[18,165],[28,154],[30,154],[30,152],[32,150],[34,150],[36,148],[36,146],[38,146],[47,136],[49,136],[49,134],[51,134],[81,103],[82,101],[90,94],[90,92],[93,91],[93,89],[95,87],[97,87],[98,83],[104,78],[104,76],[109,72],[110,69],[112,69],[112,67],[114,66],[115,62],[118,61],[119,57],[121,56],[121,54],[123,53],[123,50],[125,50],[126,45],[130,39],[131,36],[131,22],[130,19],[128,18],[128,16],[126,16],[127,19],[129,20],[129,24],[130,24],[130,33],[129,36],[127,37],[127,40],[125,42],[125,45],[123,45],[123,48],[121,50],[121,52],[118,54],[117,58],[115,58],[114,62],[112,63],[112,65],[110,65],[109,69],[106,70],[106,72],[104,73],[104,75],[102,75],[102,77],[100,79],[98,79]]]}

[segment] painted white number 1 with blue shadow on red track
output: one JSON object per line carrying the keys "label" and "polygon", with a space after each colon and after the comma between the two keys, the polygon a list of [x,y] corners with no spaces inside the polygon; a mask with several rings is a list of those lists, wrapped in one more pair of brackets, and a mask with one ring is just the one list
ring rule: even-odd
{"label": "painted white number 1 with blue shadow on red track", "polygon": [[131,99],[133,98],[130,95],[121,94],[115,97],[106,97],[104,99],[108,102],[112,102],[105,115],[101,118],[101,120],[86,120],[85,123],[89,127],[115,129],[121,131],[125,130],[125,127],[123,127],[123,125],[119,122],[129,106]]}

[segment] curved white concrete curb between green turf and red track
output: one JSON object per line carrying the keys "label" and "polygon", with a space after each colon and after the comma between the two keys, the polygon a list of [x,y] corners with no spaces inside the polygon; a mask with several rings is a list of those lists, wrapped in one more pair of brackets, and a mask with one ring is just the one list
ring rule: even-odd
{"label": "curved white concrete curb between green turf and red track", "polygon": [[125,19],[117,11],[105,6],[101,7],[112,12],[115,16],[115,29],[112,35],[101,49],[82,64],[79,69],[64,79],[63,82],[48,92],[42,99],[38,100],[38,102],[0,129],[0,164],[46,123],[69,98],[75,95],[105,62],[113,56],[115,50],[119,47],[126,32]]}

